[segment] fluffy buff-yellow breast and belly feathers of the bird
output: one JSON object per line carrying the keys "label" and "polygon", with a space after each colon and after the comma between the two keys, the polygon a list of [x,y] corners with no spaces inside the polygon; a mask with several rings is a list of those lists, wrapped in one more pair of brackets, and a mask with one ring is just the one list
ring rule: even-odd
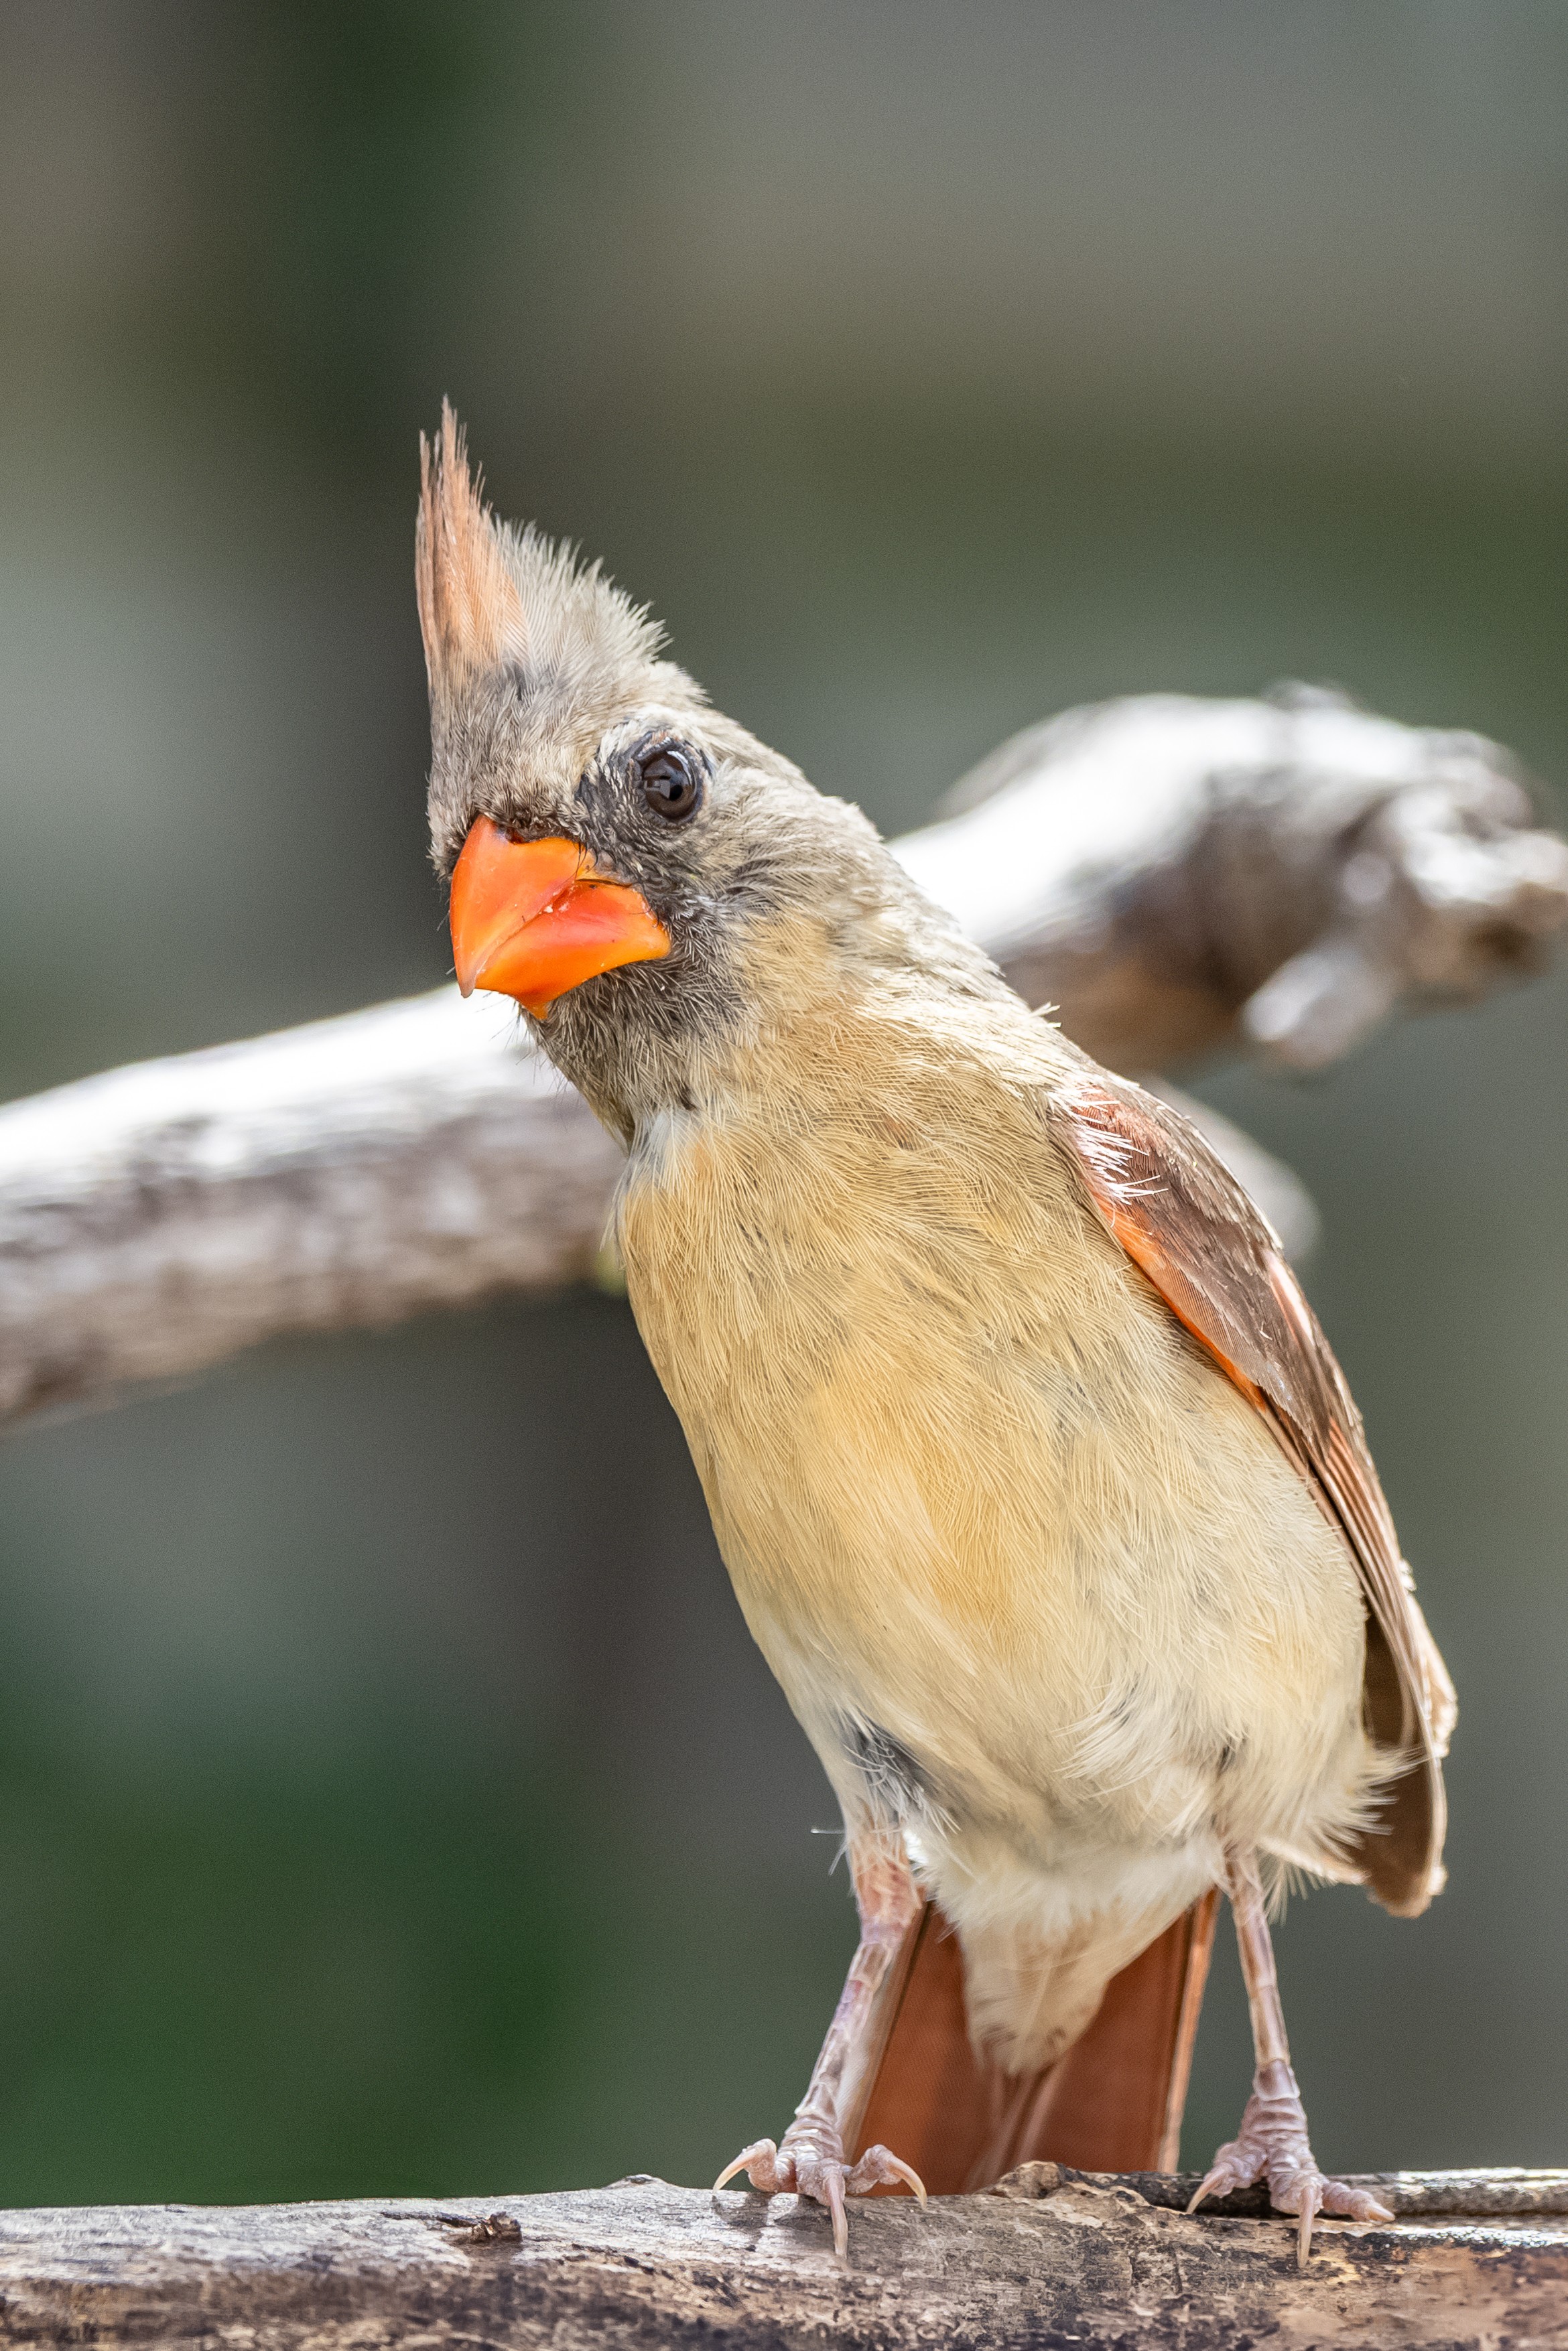
{"label": "fluffy buff-yellow breast and belly feathers of the bird", "polygon": [[1244,1749],[1321,1775],[1361,1662],[1342,1545],[1053,1143],[1063,1070],[994,1004],[802,1020],[642,1138],[621,1208],[741,1603],[839,1794],[875,1726],[1030,1843],[1107,1803],[1175,1829]]}

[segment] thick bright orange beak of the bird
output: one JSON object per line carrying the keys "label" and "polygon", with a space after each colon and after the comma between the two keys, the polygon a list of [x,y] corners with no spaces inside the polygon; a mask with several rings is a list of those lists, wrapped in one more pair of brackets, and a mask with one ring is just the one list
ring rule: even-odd
{"label": "thick bright orange beak of the bird", "polygon": [[451,875],[451,957],[465,997],[517,997],[536,1020],[569,987],[651,964],[670,933],[646,900],[602,882],[578,842],[515,842],[482,816]]}

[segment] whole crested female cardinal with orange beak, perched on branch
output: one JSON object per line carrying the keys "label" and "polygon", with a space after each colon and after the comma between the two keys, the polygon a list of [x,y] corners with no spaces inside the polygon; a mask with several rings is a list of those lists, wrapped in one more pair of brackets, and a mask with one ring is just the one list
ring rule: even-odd
{"label": "whole crested female cardinal with orange beak, perched on branch", "polygon": [[1178,2111],[1222,1893],[1255,2074],[1192,2203],[1267,2182],[1300,2262],[1319,2212],[1387,2219],[1312,2154],[1269,1909],[1291,1874],[1425,1909],[1455,1700],[1272,1227],[602,567],[498,520],[447,402],[416,592],[458,985],[512,997],[625,1150],[628,1298],[844,1815],[844,1994],[717,2186],[823,2205],[839,2255],[846,2198],[924,2201],[858,2144],[910,2104],[917,1980],[926,2027],[959,1987],[945,2059],[1018,2146],[1175,1954]]}

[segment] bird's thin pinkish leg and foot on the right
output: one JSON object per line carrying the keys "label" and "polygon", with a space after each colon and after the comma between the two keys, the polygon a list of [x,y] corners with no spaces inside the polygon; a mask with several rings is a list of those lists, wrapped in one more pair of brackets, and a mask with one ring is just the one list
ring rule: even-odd
{"label": "bird's thin pinkish leg and foot on the right", "polygon": [[1352,2189],[1342,2179],[1324,2179],[1316,2168],[1307,2139],[1307,2109],[1291,2071],[1286,2012],[1279,2003],[1274,1944],[1269,1942],[1255,1853],[1232,1848],[1225,1855],[1225,1890],[1229,1914],[1237,1921],[1258,2071],[1241,2130],[1213,2158],[1208,2177],[1187,2210],[1197,2212],[1206,2196],[1229,2196],[1232,2189],[1267,2179],[1274,2210],[1298,2215],[1295,2262],[1305,2269],[1312,2250],[1312,2222],[1319,2212],[1340,2212],[1345,2219],[1392,2219],[1394,2215],[1366,2189]]}

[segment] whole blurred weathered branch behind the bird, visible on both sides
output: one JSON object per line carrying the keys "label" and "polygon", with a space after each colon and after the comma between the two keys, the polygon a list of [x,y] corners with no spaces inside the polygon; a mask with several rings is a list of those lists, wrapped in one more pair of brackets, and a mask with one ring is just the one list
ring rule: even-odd
{"label": "whole blurred weathered branch behind the bird, visible on both sides", "polygon": [[[1032,1002],[1124,1070],[1314,1065],[1474,997],[1568,919],[1568,846],[1479,736],[1324,696],[1147,696],[1004,745],[896,844]],[[1293,1246],[1312,1206],[1220,1150]],[[287,1331],[583,1277],[616,1152],[454,990],[113,1070],[0,1110],[0,1420]]]}

